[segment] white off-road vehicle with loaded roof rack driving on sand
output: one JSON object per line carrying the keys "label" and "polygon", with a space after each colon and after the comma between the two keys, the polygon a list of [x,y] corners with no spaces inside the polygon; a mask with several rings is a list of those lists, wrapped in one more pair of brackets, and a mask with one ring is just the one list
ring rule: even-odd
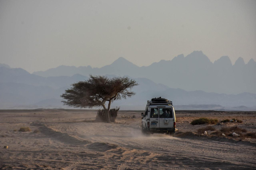
{"label": "white off-road vehicle with loaded roof rack driving on sand", "polygon": [[145,113],[141,113],[141,116],[143,134],[166,133],[174,135],[176,118],[171,101],[161,97],[151,99],[147,103]]}

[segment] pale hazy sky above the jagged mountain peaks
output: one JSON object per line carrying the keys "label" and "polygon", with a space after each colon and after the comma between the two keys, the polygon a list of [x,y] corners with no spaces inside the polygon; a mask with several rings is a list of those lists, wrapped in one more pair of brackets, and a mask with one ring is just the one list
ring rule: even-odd
{"label": "pale hazy sky above the jagged mountain peaks", "polygon": [[212,62],[256,60],[256,1],[0,0],[0,63],[138,66],[202,50]]}

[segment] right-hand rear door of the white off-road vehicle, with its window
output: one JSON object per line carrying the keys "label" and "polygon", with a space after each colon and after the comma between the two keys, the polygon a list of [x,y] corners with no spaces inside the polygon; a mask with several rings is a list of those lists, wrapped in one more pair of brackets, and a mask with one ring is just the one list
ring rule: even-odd
{"label": "right-hand rear door of the white off-road vehicle, with its window", "polygon": [[173,128],[172,108],[159,108],[159,128]]}

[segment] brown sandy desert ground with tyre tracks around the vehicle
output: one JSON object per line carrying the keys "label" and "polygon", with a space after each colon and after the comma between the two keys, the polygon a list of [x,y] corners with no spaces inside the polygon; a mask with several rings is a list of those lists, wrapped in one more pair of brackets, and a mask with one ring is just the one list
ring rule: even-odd
{"label": "brown sandy desert ground with tyre tracks around the vehicle", "polygon": [[140,111],[119,111],[115,124],[89,123],[96,113],[1,110],[0,169],[256,169],[255,139],[200,136],[197,129],[207,125],[190,124],[200,117],[238,118],[243,123],[215,128],[235,125],[256,132],[256,112],[176,111],[175,137],[143,136]]}

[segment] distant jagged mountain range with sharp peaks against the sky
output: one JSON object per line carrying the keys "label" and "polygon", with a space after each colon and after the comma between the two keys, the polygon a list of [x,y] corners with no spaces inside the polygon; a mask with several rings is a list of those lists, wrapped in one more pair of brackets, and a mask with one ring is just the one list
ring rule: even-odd
{"label": "distant jagged mountain range with sharp peaks against the sky", "polygon": [[59,66],[46,71],[34,72],[34,75],[72,76],[92,75],[129,75],[134,78],[147,78],[172,88],[187,91],[239,94],[256,93],[256,62],[251,59],[247,64],[239,57],[234,65],[228,56],[222,56],[214,63],[202,51],[193,51],[186,57],[181,54],[172,60],[161,60],[149,66],[139,67],[123,57],[101,68],[91,66]]}

